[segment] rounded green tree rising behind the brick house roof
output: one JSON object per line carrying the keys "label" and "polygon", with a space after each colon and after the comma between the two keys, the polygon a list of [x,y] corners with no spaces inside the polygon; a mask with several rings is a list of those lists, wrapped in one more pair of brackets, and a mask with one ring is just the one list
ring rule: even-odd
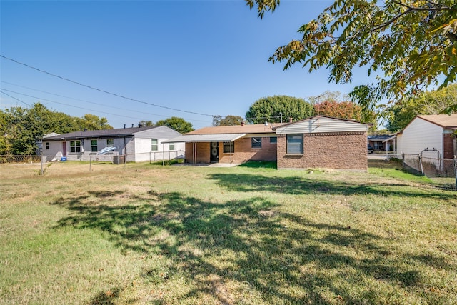
{"label": "rounded green tree rising behind the brick house roof", "polygon": [[246,120],[253,124],[279,123],[292,118],[295,121],[314,115],[314,108],[304,99],[275,95],[255,101],[246,112]]}

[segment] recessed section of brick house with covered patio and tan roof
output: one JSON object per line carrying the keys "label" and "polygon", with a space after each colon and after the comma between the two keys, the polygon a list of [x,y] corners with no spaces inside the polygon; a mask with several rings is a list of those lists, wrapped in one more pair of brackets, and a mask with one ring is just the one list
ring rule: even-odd
{"label": "recessed section of brick house with covered patio and tan roof", "polygon": [[276,133],[279,124],[241,124],[213,126],[191,131],[175,143],[186,143],[186,161],[189,163],[220,162],[241,164],[253,161],[276,160]]}

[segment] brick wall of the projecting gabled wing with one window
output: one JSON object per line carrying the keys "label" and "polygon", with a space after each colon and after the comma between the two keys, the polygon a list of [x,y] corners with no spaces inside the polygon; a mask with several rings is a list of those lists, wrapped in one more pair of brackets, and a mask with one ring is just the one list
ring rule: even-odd
{"label": "brick wall of the projecting gabled wing with one window", "polygon": [[286,134],[278,134],[278,169],[356,169],[366,171],[366,132],[304,134],[303,155],[286,154]]}

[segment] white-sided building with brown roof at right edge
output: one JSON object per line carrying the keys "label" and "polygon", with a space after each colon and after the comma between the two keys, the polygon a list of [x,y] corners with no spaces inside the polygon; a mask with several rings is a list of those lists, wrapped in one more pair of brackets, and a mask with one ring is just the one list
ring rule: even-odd
{"label": "white-sided building with brown roof at right edge", "polygon": [[457,114],[416,116],[397,134],[398,157],[422,154],[430,158],[452,159],[457,154]]}

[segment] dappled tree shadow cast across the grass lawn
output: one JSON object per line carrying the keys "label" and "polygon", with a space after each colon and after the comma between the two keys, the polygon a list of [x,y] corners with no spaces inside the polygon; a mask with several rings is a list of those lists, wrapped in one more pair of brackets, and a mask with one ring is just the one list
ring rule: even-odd
{"label": "dappled tree shadow cast across the grass lawn", "polygon": [[[238,174],[213,178],[236,190],[247,188],[242,183],[236,186],[238,180],[254,179]],[[331,192],[357,191],[326,183],[306,186],[306,180],[276,183],[257,176],[253,181],[255,188],[271,191],[296,189],[288,183],[303,184],[305,191],[322,187]],[[372,191],[368,186],[362,190]],[[341,298],[348,304],[380,304],[386,299],[373,282],[403,297],[404,291],[398,289],[423,285],[420,270],[425,259],[427,264],[436,262],[434,268],[453,268],[435,257],[391,255],[381,236],[279,213],[277,204],[262,197],[216,203],[151,190],[116,206],[119,196],[128,194],[98,191],[61,198],[54,204],[72,214],[58,226],[101,230],[123,251],[163,255],[170,262],[166,270],[151,267],[141,276],[161,286],[185,277],[191,291],[174,296],[183,302],[212,298],[221,304],[240,303],[243,299],[237,298],[247,290],[246,295],[258,297],[248,303],[334,304]],[[233,283],[238,286],[233,288]],[[94,301],[110,304],[114,297],[98,294]],[[92,304],[104,304],[96,302]]]}

